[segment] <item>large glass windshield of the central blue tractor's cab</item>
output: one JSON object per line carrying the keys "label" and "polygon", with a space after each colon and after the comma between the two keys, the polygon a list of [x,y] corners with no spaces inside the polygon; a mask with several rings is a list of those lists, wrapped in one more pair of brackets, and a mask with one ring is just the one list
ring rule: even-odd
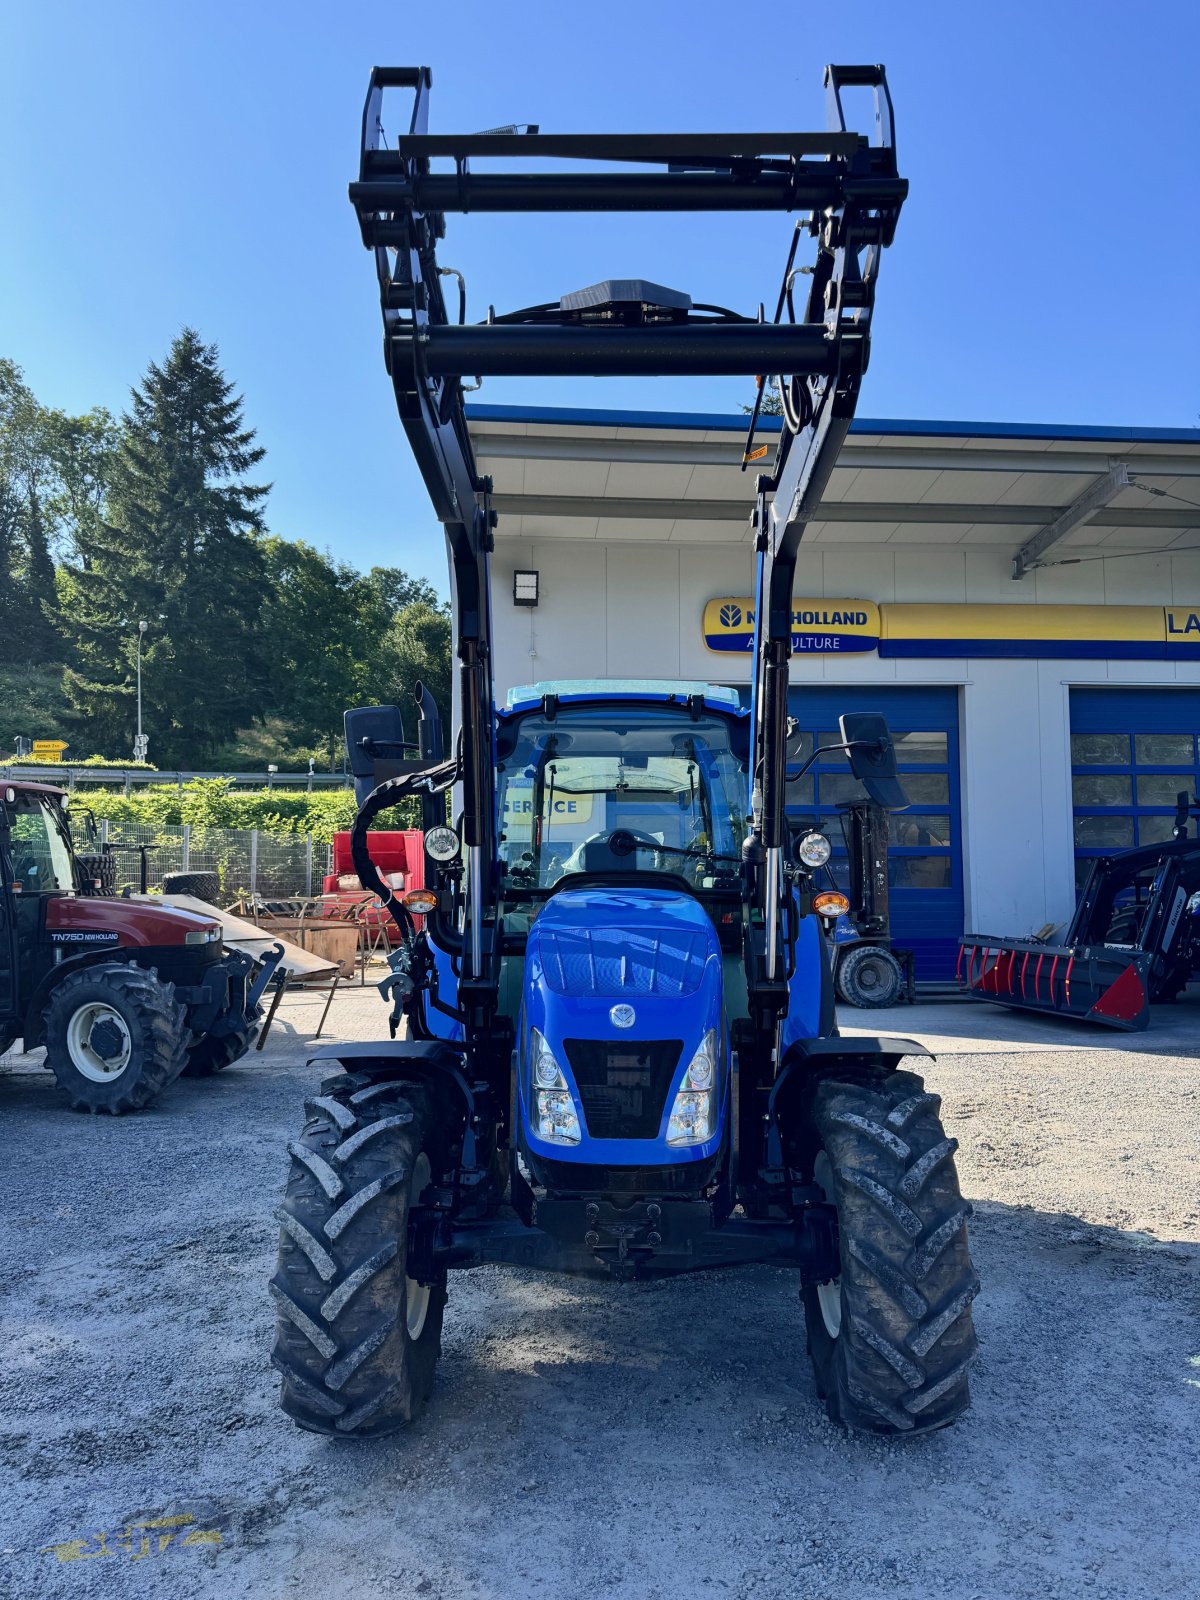
{"label": "large glass windshield of the central blue tractor's cab", "polygon": [[562,706],[504,730],[499,854],[507,888],[579,872],[661,872],[694,888],[738,874],[746,774],[730,722],[683,706]]}

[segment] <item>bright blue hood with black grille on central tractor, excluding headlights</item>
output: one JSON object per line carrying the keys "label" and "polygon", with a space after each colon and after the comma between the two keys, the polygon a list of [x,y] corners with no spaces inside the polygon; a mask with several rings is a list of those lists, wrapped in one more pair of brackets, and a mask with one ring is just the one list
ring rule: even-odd
{"label": "bright blue hood with black grille on central tractor, excluding headlights", "polygon": [[[579,1112],[573,1146],[549,1144],[530,1126],[534,1029]],[[554,894],[525,950],[518,1096],[530,1152],[613,1166],[710,1158],[720,1115],[704,1144],[667,1150],[662,1142],[683,1074],[710,1032],[725,1062],[720,946],[698,901],[618,885]],[[718,1077],[722,1104],[723,1094]]]}

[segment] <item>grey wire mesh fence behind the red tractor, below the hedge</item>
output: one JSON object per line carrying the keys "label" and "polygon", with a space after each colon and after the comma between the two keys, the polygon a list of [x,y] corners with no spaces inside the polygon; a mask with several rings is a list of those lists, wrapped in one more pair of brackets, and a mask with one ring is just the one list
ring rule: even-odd
{"label": "grey wire mesh fence behind the red tractor, below the hedge", "polygon": [[214,872],[218,904],[246,898],[293,899],[320,894],[331,870],[331,846],[312,834],[264,834],[262,829],[194,827],[110,822],[98,824],[101,845],[110,848],[117,888],[138,890],[142,882],[160,888],[168,872]]}

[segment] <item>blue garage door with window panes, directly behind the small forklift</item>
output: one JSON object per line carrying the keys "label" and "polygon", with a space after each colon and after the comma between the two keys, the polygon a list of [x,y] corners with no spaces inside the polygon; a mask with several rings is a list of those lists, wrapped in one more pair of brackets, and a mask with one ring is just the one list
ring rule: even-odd
{"label": "blue garage door with window panes, directly behind the small forklift", "polygon": [[[963,931],[962,811],[958,803],[957,688],[805,688],[789,691],[798,728],[789,747],[798,766],[821,744],[837,739],[846,710],[878,710],[888,718],[904,789],[912,802],[891,818],[891,933],[917,958],[917,978],[954,978]],[[834,842],[834,875],[845,885],[846,854],[838,800],[862,794],[845,755],[824,755],[789,782],[787,808],[811,818]]]}

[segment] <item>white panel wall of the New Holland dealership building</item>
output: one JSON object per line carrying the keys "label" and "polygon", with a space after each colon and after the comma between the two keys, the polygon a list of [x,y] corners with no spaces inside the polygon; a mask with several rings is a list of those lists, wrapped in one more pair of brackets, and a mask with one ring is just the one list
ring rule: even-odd
{"label": "white panel wall of the New Holland dealership building", "polygon": [[[536,608],[512,603],[512,573],[541,574]],[[563,677],[749,682],[747,656],[704,646],[717,595],[752,592],[749,542],[498,541],[496,690]],[[797,597],[926,603],[1170,605],[1200,598],[1200,555],[1093,560],[1013,582],[990,547],[811,544]],[[968,930],[1019,933],[1075,904],[1070,686],[1200,683],[1200,662],[973,661],[810,656],[794,682],[930,685],[962,691],[962,806]]]}

